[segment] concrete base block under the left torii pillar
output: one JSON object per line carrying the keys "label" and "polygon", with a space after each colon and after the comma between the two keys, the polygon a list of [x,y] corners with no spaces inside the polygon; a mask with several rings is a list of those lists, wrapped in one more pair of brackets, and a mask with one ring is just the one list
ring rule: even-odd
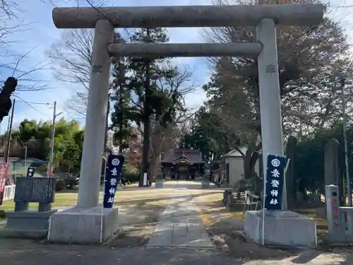
{"label": "concrete base block under the left torii pillar", "polygon": [[51,219],[48,240],[68,244],[99,244],[102,226],[102,242],[107,241],[118,230],[117,208],[80,208],[75,206],[54,213]]}

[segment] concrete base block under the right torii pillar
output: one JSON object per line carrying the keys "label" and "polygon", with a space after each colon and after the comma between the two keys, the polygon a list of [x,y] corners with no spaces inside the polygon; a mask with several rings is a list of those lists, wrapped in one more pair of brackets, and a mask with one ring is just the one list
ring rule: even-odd
{"label": "concrete base block under the right torii pillar", "polygon": [[[263,211],[247,211],[244,232],[262,244]],[[316,247],[316,222],[292,211],[265,211],[265,245]]]}

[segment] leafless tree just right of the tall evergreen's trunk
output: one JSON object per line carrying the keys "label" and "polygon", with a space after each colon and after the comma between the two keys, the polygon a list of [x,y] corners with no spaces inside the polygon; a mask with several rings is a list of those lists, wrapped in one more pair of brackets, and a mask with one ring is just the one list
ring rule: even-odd
{"label": "leafless tree just right of the tall evergreen's trunk", "polygon": [[[172,69],[172,71],[171,71]],[[177,146],[182,134],[181,124],[193,115],[185,107],[184,96],[196,87],[191,83],[192,72],[172,66],[168,61],[161,66],[160,73],[153,75],[152,86],[155,93],[161,93],[165,108],[161,113],[150,117],[150,141],[148,148],[149,175],[155,176],[160,163],[160,155]],[[143,102],[132,101],[133,107],[143,113]],[[173,113],[174,112],[174,113]],[[172,119],[169,119],[172,117]],[[138,134],[143,138],[143,126],[138,127]]]}

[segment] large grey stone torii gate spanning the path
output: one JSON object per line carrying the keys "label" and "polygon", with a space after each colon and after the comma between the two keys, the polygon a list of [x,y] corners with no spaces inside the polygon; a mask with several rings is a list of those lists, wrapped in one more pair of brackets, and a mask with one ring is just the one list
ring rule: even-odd
{"label": "large grey stone torii gate spanning the path", "polygon": [[[78,204],[55,213],[49,240],[100,242],[98,196],[104,151],[109,69],[112,57],[258,57],[263,153],[283,155],[282,117],[277,66],[276,25],[318,25],[323,5],[143,6],[54,8],[56,28],[95,28],[90,91]],[[114,28],[254,26],[257,42],[228,44],[121,44]],[[266,167],[266,155],[263,165]],[[103,240],[116,230],[117,209],[104,209]]]}

